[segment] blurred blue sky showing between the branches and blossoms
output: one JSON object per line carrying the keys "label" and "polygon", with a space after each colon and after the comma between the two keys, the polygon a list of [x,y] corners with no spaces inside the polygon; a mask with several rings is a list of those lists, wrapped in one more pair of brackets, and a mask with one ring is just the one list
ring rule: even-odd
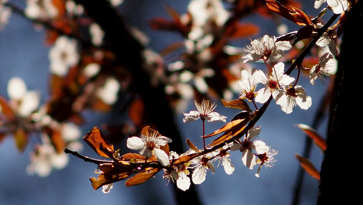
{"label": "blurred blue sky showing between the branches and blossoms", "polygon": [[[26,7],[25,1],[13,0],[9,2],[20,8]],[[182,14],[187,12],[189,1],[139,0],[136,2],[124,0],[116,9],[126,25],[138,28],[146,34],[150,40],[149,48],[155,52],[162,52],[168,45],[184,39],[177,32],[150,28],[149,22],[154,17],[171,18],[166,11],[166,3]],[[224,4],[227,5],[225,2]],[[314,9],[313,4],[313,0],[304,1],[300,9],[311,16],[316,16],[319,10]],[[35,90],[40,93],[42,104],[50,96],[49,81],[51,76],[48,58],[51,46],[45,43],[45,29],[39,26],[34,27],[31,21],[15,12],[12,13],[8,21],[3,31],[0,32],[0,95],[8,99],[8,81],[12,77],[19,77],[24,80],[28,90]],[[249,37],[231,40],[230,45],[232,46],[244,48],[245,44],[249,44],[249,38],[256,39],[265,34],[280,36],[276,29],[280,23],[284,24],[286,32],[299,29],[294,23],[277,16],[267,18],[252,13],[243,21],[258,25],[259,32]],[[168,57],[165,58],[166,63],[172,63],[172,61]],[[262,69],[264,64],[255,63],[251,66]],[[296,75],[295,72],[291,74],[291,76]],[[281,111],[279,105],[271,103],[257,123],[261,126],[259,139],[263,139],[267,145],[273,146],[273,149],[280,152],[275,156],[278,159],[274,163],[276,166],[268,170],[262,168],[261,175],[257,178],[254,176],[257,167],[254,170],[249,170],[243,165],[240,152],[231,153],[230,158],[235,166],[233,174],[227,175],[221,167],[216,169],[215,174],[207,170],[207,179],[203,184],[196,185],[197,193],[203,204],[291,203],[300,166],[294,154],[302,154],[305,143],[305,134],[294,125],[299,123],[310,125],[312,123],[321,97],[327,89],[327,85],[321,83],[316,83],[315,86],[311,85],[307,75],[302,76],[299,85],[304,87],[307,95],[313,99],[312,106],[308,110],[296,107],[294,112],[286,114]],[[118,104],[122,104],[123,101],[120,96],[126,95],[125,93],[119,95]],[[233,99],[237,99],[237,97],[238,95],[235,93]],[[227,121],[231,120],[237,113],[236,110],[221,105],[219,99],[215,99],[215,102],[218,104],[216,112],[227,116]],[[195,110],[193,99],[188,100],[184,106],[183,112],[185,113]],[[81,115],[84,123],[80,126],[81,136],[84,136],[94,126],[102,129],[103,124],[116,125],[115,122],[129,120],[127,115],[120,114],[117,110],[113,109],[112,113],[83,111]],[[160,110],[160,116],[155,117],[163,118],[162,110]],[[170,120],[175,120],[184,141],[189,138],[197,147],[201,148],[203,146],[199,138],[202,135],[201,122],[195,121],[184,124],[182,119],[183,113],[179,112],[175,114],[174,119]],[[326,135],[326,124],[326,121],[323,122],[318,129],[318,132],[323,136]],[[223,122],[207,123],[206,133],[211,133],[223,125]],[[138,134],[136,133],[135,136]],[[90,177],[97,177],[97,174],[94,173],[97,166],[74,156],[69,156],[69,163],[64,169],[52,170],[47,177],[29,176],[26,171],[30,163],[29,156],[33,152],[34,144],[37,143],[37,140],[31,138],[37,137],[39,138],[37,134],[30,137],[29,144],[23,152],[16,149],[13,137],[7,136],[1,141],[0,155],[2,157],[0,163],[3,165],[3,169],[0,175],[0,204],[176,204],[172,182],[166,185],[167,180],[162,178],[162,172],[147,182],[133,187],[126,187],[124,181],[114,183],[113,189],[107,194],[103,193],[101,189],[93,190],[89,181]],[[81,154],[92,158],[101,158],[85,142],[81,140],[81,143],[83,144]],[[115,148],[121,147],[120,153],[130,152],[131,150],[127,149],[125,145],[126,139],[123,139],[119,144],[115,144]],[[313,146],[310,160],[318,169],[322,157],[322,152]],[[315,203],[318,194],[317,185],[317,180],[305,175],[300,204]]]}

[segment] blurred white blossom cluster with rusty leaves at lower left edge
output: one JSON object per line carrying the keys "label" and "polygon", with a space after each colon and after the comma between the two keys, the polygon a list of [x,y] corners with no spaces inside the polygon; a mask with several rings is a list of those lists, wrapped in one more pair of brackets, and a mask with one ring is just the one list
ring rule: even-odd
{"label": "blurred white blossom cluster with rusty leaves at lower left edge", "polygon": [[[80,149],[82,144],[79,127],[71,122],[59,123],[40,108],[40,95],[28,91],[25,82],[13,77],[8,83],[9,102],[1,97],[1,139],[12,134],[19,150],[23,151],[29,138],[36,138],[34,152],[30,156],[29,174],[46,177],[52,168],[62,169],[68,164],[64,148]],[[35,134],[38,133],[38,134]],[[40,135],[40,139],[38,137]]]}

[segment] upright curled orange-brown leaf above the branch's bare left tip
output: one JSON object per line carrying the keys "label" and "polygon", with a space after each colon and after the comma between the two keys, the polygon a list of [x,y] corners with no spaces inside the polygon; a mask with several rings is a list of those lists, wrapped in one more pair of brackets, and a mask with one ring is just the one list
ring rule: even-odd
{"label": "upright curled orange-brown leaf above the branch's bare left tip", "polygon": [[86,141],[87,144],[99,154],[99,156],[114,158],[113,145],[107,141],[105,135],[98,127],[94,127],[89,133],[87,133],[86,136],[83,137],[83,140]]}

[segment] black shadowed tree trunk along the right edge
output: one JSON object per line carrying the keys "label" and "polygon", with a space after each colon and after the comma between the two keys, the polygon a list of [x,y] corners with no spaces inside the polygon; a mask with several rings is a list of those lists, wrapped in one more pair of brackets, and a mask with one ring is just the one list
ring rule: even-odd
{"label": "black shadowed tree trunk along the right edge", "polygon": [[358,1],[347,13],[317,204],[355,204],[361,198],[358,109],[362,89],[355,82],[362,79],[362,26],[363,1]]}

